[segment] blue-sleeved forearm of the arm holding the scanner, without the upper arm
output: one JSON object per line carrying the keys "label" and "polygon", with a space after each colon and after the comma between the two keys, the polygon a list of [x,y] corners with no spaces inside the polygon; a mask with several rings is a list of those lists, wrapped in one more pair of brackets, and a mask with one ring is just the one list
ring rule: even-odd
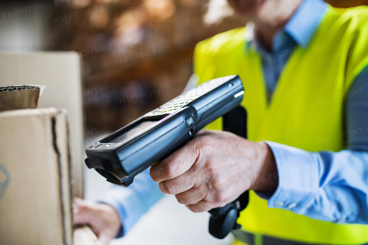
{"label": "blue-sleeved forearm of the arm holding the scanner, without the upper arm", "polygon": [[279,177],[269,207],[329,222],[368,224],[368,152],[313,153],[267,143]]}

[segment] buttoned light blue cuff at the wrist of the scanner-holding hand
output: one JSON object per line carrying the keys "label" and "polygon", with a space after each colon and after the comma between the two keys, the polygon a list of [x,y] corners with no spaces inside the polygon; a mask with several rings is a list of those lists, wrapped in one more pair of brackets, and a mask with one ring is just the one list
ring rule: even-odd
{"label": "buttoned light blue cuff at the wrist of the scanner-holding hand", "polygon": [[279,185],[269,198],[268,207],[302,212],[318,193],[318,153],[271,141],[265,143],[275,156],[279,176]]}

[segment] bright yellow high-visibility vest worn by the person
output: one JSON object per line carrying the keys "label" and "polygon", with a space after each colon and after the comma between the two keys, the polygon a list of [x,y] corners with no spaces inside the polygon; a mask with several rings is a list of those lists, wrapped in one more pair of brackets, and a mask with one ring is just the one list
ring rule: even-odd
{"label": "bright yellow high-visibility vest worn by the person", "polygon": [[[248,139],[308,151],[344,149],[344,102],[359,92],[351,91],[350,86],[368,64],[368,7],[329,6],[308,47],[289,50],[292,54],[272,95],[267,95],[262,73],[267,57],[246,47],[244,33],[245,28],[237,28],[198,43],[193,64],[199,82],[240,76],[245,88],[241,104],[248,112]],[[221,124],[218,119],[210,128],[221,130]],[[268,208],[266,200],[252,191],[238,223],[248,232],[305,243],[368,242],[366,225],[337,224]]]}

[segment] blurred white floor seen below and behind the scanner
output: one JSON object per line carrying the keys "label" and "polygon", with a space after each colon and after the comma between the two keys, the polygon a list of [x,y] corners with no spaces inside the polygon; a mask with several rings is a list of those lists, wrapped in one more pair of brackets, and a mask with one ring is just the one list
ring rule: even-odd
{"label": "blurred white floor seen below and behind the scanner", "polygon": [[[107,134],[88,137],[85,146]],[[85,198],[96,200],[112,184],[95,170],[86,168]],[[128,187],[129,188],[129,187]],[[228,235],[223,240],[208,233],[209,213],[193,213],[177,202],[175,196],[167,195],[142,215],[135,226],[123,238],[113,239],[109,245],[220,245],[231,244]]]}

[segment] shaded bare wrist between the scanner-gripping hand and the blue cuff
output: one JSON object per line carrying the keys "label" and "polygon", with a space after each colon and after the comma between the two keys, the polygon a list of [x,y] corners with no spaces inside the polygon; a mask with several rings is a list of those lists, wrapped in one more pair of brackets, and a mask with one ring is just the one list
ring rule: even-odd
{"label": "shaded bare wrist between the scanner-gripping hand and the blue cuff", "polygon": [[276,160],[269,145],[263,142],[256,144],[258,148],[258,159],[256,161],[258,171],[254,172],[250,189],[272,195],[279,185]]}

